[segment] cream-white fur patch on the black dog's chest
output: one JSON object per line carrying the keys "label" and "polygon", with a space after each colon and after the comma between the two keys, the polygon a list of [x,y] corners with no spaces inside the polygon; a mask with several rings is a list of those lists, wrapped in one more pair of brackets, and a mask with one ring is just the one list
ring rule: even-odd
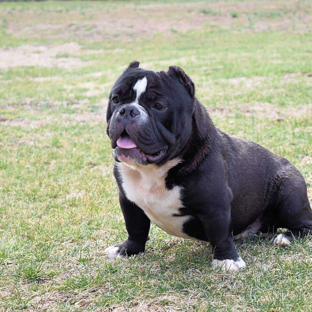
{"label": "cream-white fur patch on the black dog's chest", "polygon": [[190,216],[174,217],[183,207],[181,187],[166,188],[165,178],[170,168],[179,163],[172,159],[162,167],[157,165],[140,166],[118,163],[122,177],[122,188],[129,201],[139,206],[151,221],[165,232],[183,238],[191,238],[183,232],[183,223]]}

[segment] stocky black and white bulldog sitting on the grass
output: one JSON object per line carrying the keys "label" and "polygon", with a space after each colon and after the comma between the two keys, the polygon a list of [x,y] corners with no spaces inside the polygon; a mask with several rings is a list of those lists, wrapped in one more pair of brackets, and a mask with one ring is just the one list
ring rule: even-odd
{"label": "stocky black and white bulldog sitting on the grass", "polygon": [[234,239],[289,232],[288,245],[312,231],[303,176],[287,159],[217,129],[176,66],[149,71],[132,62],[113,85],[107,134],[128,238],[105,252],[111,259],[144,252],[150,222],[171,235],[212,246],[212,266],[245,262]]}

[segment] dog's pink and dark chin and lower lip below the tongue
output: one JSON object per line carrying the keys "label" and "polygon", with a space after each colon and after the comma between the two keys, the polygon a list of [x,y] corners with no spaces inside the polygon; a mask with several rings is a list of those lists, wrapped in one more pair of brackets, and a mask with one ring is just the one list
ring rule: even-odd
{"label": "dog's pink and dark chin and lower lip below the tongue", "polygon": [[154,154],[147,154],[138,147],[132,149],[123,149],[117,146],[113,149],[113,156],[115,160],[123,163],[137,163],[141,166],[146,166],[149,163],[158,163],[163,159],[167,148],[159,150]]}

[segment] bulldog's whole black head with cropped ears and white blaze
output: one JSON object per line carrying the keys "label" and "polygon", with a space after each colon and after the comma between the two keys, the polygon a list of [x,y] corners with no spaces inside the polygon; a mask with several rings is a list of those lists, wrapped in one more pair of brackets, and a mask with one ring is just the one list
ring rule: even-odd
{"label": "bulldog's whole black head with cropped ears and white blaze", "polygon": [[194,93],[180,68],[154,72],[132,62],[109,96],[107,134],[115,160],[147,165],[179,155],[192,134]]}

